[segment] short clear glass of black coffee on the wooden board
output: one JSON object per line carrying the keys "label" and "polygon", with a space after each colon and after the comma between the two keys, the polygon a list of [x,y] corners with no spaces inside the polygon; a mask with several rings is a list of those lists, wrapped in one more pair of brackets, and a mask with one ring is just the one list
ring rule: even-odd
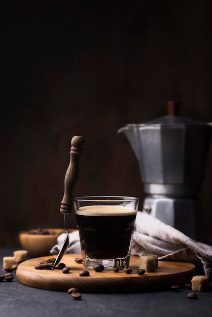
{"label": "short clear glass of black coffee on the wooden board", "polygon": [[85,196],[74,199],[83,264],[105,270],[129,266],[139,199],[125,196]]}

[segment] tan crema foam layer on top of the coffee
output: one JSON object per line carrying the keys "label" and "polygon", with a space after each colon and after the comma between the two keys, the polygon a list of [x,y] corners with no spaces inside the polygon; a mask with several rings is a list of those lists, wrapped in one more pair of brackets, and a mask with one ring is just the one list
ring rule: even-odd
{"label": "tan crema foam layer on top of the coffee", "polygon": [[84,206],[80,210],[76,210],[75,213],[80,216],[129,216],[135,215],[136,211],[132,207],[124,206]]}

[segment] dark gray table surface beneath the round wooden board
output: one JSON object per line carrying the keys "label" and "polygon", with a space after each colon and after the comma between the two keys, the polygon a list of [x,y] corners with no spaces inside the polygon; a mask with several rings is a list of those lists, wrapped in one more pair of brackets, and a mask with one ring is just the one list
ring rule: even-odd
{"label": "dark gray table surface beneath the round wooden board", "polygon": [[[3,257],[13,256],[17,249],[0,249],[0,271]],[[15,272],[14,272],[15,276]],[[135,294],[83,293],[74,300],[66,292],[48,291],[13,282],[0,282],[1,317],[106,317],[106,316],[212,316],[212,291],[198,292],[197,299],[188,299],[190,291],[161,291]]]}

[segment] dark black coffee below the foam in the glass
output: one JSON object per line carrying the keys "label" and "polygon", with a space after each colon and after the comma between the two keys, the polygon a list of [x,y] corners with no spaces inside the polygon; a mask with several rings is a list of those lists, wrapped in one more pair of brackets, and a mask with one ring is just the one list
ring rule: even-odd
{"label": "dark black coffee below the foam in the glass", "polygon": [[136,214],[121,216],[87,216],[76,214],[81,235],[81,248],[95,259],[127,256]]}

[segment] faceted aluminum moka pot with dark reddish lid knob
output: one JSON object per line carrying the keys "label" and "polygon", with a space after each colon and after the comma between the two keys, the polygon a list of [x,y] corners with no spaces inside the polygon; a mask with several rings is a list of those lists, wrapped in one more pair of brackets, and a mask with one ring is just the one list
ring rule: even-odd
{"label": "faceted aluminum moka pot with dark reddish lid knob", "polygon": [[207,242],[198,194],[204,179],[211,124],[178,115],[180,103],[168,101],[168,115],[127,124],[124,133],[136,155],[146,197],[143,212]]}

